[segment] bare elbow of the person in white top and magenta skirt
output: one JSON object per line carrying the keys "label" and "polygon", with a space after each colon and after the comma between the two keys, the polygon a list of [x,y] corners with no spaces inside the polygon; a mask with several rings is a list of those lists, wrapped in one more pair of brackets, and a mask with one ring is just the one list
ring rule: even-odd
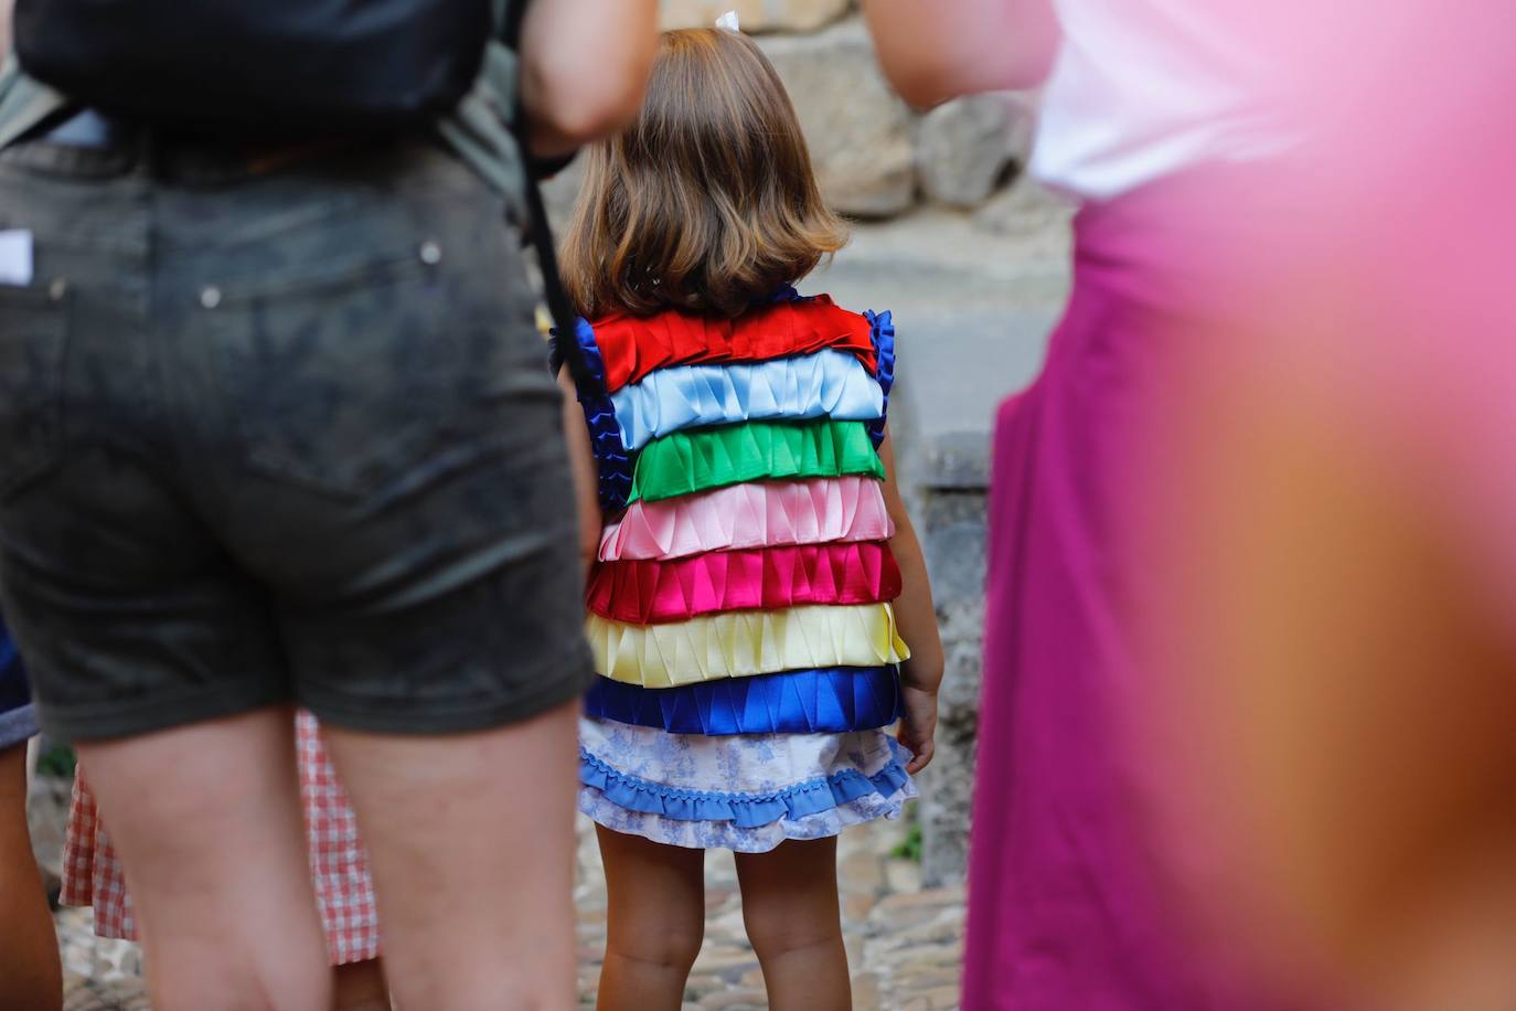
{"label": "bare elbow of the person in white top and magenta skirt", "polygon": [[885,76],[919,108],[1035,88],[1058,52],[1052,0],[864,0],[863,12]]}

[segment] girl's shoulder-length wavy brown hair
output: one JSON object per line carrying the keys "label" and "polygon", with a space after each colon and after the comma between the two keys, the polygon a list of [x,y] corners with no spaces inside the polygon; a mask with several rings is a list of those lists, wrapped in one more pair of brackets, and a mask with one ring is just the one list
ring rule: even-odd
{"label": "girl's shoulder-length wavy brown hair", "polygon": [[758,47],[722,29],[667,32],[637,120],[588,152],[564,283],[587,317],[735,317],[846,241]]}

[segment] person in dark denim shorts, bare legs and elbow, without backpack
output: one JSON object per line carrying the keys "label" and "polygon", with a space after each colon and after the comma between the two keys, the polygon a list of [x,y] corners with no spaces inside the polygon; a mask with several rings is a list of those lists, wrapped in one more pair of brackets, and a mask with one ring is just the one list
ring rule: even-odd
{"label": "person in dark denim shorts, bare legs and elbow, without backpack", "polygon": [[[534,3],[534,138],[629,115],[655,17]],[[575,493],[512,194],[459,158],[487,117],[317,144],[91,117],[0,153],[32,253],[0,283],[0,590],[155,1005],[327,1006],[302,705],[396,1002],[573,1006]]]}

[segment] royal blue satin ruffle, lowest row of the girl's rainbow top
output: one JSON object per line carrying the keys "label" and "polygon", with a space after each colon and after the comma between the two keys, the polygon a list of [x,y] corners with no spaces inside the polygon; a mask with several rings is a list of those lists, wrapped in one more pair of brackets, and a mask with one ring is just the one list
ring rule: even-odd
{"label": "royal blue satin ruffle, lowest row of the girl's rainbow top", "polygon": [[678,688],[596,678],[584,711],[600,720],[705,737],[847,734],[901,718],[901,675],[894,667],[832,667]]}

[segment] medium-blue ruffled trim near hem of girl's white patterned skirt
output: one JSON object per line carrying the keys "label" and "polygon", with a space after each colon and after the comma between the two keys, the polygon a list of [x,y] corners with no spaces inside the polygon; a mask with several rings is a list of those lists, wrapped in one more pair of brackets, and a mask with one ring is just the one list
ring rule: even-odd
{"label": "medium-blue ruffled trim near hem of girl's white patterned skirt", "polygon": [[[890,747],[893,752],[897,746],[891,741]],[[826,779],[810,779],[776,793],[705,793],[628,776],[579,749],[579,782],[599,790],[619,808],[659,814],[675,822],[731,822],[743,829],[820,814],[870,793],[893,797],[910,779],[899,753],[893,753],[888,764],[873,776],[844,768]]]}

